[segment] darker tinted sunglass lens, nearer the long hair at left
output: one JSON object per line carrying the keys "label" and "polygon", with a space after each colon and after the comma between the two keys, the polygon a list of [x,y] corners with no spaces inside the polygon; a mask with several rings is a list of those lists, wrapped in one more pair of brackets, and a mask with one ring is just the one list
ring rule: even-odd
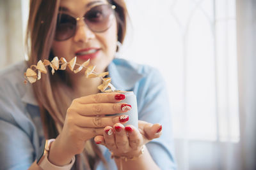
{"label": "darker tinted sunglass lens, nearer the long hair at left", "polygon": [[67,14],[59,14],[56,31],[55,31],[55,40],[63,41],[72,36],[74,36],[76,32],[76,19],[70,17]]}

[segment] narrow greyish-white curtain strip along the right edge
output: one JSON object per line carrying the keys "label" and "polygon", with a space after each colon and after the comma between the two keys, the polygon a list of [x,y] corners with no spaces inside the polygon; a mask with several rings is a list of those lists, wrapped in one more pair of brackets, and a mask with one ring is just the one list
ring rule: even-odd
{"label": "narrow greyish-white curtain strip along the right edge", "polygon": [[256,1],[237,0],[242,169],[256,169]]}

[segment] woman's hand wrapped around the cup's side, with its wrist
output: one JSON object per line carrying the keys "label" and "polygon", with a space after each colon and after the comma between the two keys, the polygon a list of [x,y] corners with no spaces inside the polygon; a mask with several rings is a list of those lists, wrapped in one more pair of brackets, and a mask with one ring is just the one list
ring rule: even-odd
{"label": "woman's hand wrapped around the cup's side, with its wrist", "polygon": [[[127,106],[131,107],[131,105],[118,103],[124,98],[124,94],[113,92],[74,99],[67,110],[63,129],[52,143],[49,160],[59,166],[68,164],[74,155],[83,152],[84,144],[88,139],[103,135],[104,127],[127,122],[129,117],[121,119],[120,115],[105,116],[130,110]],[[63,159],[57,160],[56,157]]]}

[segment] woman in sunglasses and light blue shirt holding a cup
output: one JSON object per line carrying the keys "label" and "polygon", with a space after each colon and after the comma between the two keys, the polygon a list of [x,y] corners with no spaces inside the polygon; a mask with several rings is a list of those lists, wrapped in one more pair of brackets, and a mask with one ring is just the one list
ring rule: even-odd
{"label": "woman in sunglasses and light blue shirt holding a cup", "polygon": [[[0,74],[0,169],[175,169],[163,79],[151,67],[114,59],[126,19],[121,0],[31,0],[29,61]],[[118,90],[134,91],[139,129],[125,127],[128,118],[106,116],[130,105],[124,94],[100,93],[99,78],[67,69],[22,84],[26,67],[54,56],[90,59]],[[52,140],[42,145],[44,138]]]}

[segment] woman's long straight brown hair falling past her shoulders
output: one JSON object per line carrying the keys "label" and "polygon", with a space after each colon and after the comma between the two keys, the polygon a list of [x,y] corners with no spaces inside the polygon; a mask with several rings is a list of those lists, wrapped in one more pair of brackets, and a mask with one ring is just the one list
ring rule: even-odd
{"label": "woman's long straight brown hair falling past her shoulders", "polygon": [[[56,20],[61,0],[31,0],[26,34],[26,50],[28,66],[36,64],[38,60],[51,60],[54,56],[51,50],[56,29]],[[108,0],[116,6],[116,21],[118,25],[118,41],[124,41],[127,22],[127,8],[124,0]],[[40,108],[40,117],[46,139],[56,138],[60,134],[67,108],[74,99],[72,82],[65,71],[57,71],[54,76],[51,71],[42,75],[40,81],[33,83],[33,92]],[[82,154],[76,155],[74,169],[93,169],[102,160],[107,165],[99,147],[93,140],[86,141]]]}

